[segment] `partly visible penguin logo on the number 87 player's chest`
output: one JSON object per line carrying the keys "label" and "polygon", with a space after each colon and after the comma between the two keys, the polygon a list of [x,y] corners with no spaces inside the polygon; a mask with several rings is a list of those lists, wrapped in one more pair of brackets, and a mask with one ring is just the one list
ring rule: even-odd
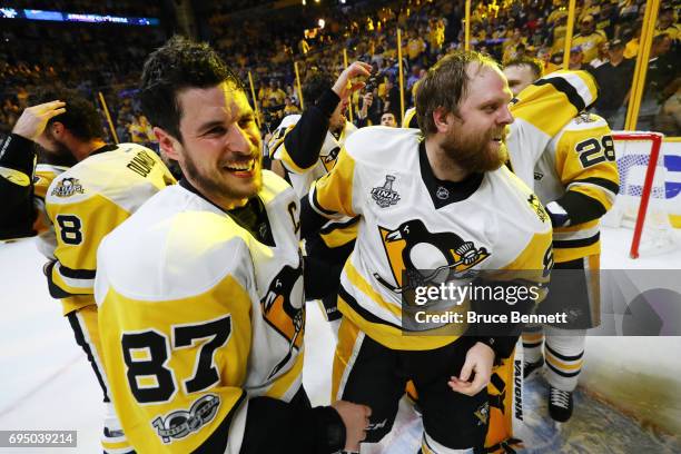
{"label": "partly visible penguin logo on the number 87 player's chest", "polygon": [[286,265],[272,279],[267,293],[260,299],[265,322],[277,330],[289,343],[286,356],[272,369],[268,379],[274,377],[290,359],[294,348],[303,346],[305,329],[305,306],[303,298],[296,298],[303,292],[303,265],[297,268]]}

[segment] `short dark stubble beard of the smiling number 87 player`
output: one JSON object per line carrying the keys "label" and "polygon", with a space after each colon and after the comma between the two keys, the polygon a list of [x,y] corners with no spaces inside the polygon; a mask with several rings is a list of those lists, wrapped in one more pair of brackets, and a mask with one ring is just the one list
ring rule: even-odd
{"label": "short dark stubble beard of the smiling number 87 player", "polygon": [[[189,180],[198,186],[199,189],[205,196],[213,199],[210,196],[217,196],[219,199],[231,199],[231,200],[240,200],[244,198],[250,198],[255,196],[260,188],[263,187],[263,159],[260,155],[256,151],[251,154],[251,156],[256,156],[256,164],[254,167],[254,177],[253,184],[248,185],[246,188],[241,188],[238,186],[233,186],[228,180],[225,179],[224,174],[219,170],[223,165],[227,165],[229,162],[220,162],[218,168],[213,168],[208,174],[206,171],[199,170],[198,166],[191,158],[189,154],[184,151],[185,157],[185,166],[182,168],[182,172],[185,176],[189,178]],[[234,177],[236,178],[236,177]]]}

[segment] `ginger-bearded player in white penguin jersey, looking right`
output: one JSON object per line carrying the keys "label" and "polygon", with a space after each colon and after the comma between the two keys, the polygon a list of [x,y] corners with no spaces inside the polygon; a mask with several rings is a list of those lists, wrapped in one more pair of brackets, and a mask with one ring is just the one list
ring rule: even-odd
{"label": "ginger-bearded player in white penguin jersey, looking right", "polygon": [[403,272],[416,268],[547,275],[549,218],[502,167],[510,100],[494,61],[452,53],[417,88],[425,138],[414,129],[357,131],[304,200],[306,235],[327,217],[361,217],[342,275],[333,396],[372,407],[367,442],[391,431],[411,378],[424,416],[423,452],[484,446],[492,366],[510,355],[517,336],[406,335],[401,293]]}

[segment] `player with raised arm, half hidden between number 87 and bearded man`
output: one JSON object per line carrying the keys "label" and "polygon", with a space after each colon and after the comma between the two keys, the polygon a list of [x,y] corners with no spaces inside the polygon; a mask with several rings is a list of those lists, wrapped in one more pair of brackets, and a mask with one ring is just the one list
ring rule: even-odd
{"label": "player with raised arm, half hidden between number 87 and bearded man", "polygon": [[[352,93],[365,86],[361,79],[369,76],[371,68],[371,65],[356,61],[345,68],[335,82],[324,72],[313,73],[303,86],[309,107],[303,115],[284,118],[270,139],[269,154],[282,162],[283,177],[298,197],[307,195],[313,181],[335,166],[340,147],[356,131],[357,128],[346,120],[345,111]],[[355,236],[356,221],[346,218],[328,223],[318,236],[305,243],[305,292],[308,298],[320,298],[328,322],[340,317],[336,290]]]}

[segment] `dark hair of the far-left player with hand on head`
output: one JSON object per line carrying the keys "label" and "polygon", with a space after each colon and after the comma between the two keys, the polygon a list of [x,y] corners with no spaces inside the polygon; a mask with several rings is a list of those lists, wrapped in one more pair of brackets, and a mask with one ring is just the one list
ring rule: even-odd
{"label": "dark hair of the far-left player with hand on head", "polygon": [[31,97],[31,105],[60,100],[66,102],[66,112],[48,120],[48,126],[56,121],[62,124],[69,132],[80,140],[101,139],[103,128],[99,111],[85,96],[65,87],[42,89]]}

